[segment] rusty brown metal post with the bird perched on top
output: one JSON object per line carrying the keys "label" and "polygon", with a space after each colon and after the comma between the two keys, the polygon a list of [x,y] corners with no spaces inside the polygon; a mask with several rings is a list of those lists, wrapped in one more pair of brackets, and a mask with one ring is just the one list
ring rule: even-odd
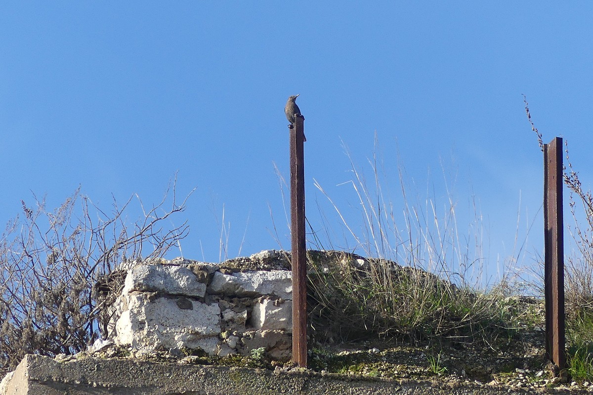
{"label": "rusty brown metal post with the bird perched on top", "polygon": [[305,242],[304,119],[291,127],[292,361],[307,367],[307,245]]}

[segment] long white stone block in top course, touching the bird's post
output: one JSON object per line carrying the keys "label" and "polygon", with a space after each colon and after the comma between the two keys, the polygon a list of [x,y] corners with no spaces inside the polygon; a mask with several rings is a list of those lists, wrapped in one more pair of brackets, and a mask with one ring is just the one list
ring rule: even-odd
{"label": "long white stone block in top course, touching the bird's post", "polygon": [[208,292],[227,296],[272,295],[292,298],[292,277],[288,270],[251,271],[223,274],[215,272]]}

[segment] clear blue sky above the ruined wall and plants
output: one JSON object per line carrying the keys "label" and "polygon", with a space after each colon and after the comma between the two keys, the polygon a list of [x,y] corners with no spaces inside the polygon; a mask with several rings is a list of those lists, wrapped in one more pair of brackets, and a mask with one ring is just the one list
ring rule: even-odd
{"label": "clear blue sky above the ruined wall and plants", "polygon": [[0,220],[31,191],[51,207],[78,185],[106,209],[111,195],[157,203],[177,172],[178,194],[196,188],[173,219],[191,228],[184,256],[218,261],[223,206],[229,257],[279,248],[270,211],[289,248],[275,165],[288,179],[283,106],[298,93],[316,230],[319,204],[343,231],[314,179],[361,218],[344,146],[369,176],[376,134],[397,210],[399,161],[420,203],[446,206],[448,186],[461,231],[477,202],[494,274],[518,215],[519,241],[535,219],[533,265],[542,157],[522,94],[590,185],[592,17],[582,1],[2,2]]}

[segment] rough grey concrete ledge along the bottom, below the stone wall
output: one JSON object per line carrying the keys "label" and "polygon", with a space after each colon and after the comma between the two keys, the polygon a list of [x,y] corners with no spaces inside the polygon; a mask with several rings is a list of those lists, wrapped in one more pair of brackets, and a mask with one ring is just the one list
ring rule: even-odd
{"label": "rough grey concrete ledge along the bottom, below the stone wall", "polygon": [[[524,391],[513,391],[524,394]],[[350,378],[316,372],[27,355],[0,395],[508,395],[508,388]]]}

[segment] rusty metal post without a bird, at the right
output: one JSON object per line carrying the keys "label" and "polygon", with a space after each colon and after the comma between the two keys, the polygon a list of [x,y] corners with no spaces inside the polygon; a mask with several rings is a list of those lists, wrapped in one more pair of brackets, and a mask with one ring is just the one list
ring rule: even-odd
{"label": "rusty metal post without a bird, at the right", "polygon": [[562,184],[562,139],[556,137],[544,144],[544,289],[546,352],[560,371],[566,368]]}

